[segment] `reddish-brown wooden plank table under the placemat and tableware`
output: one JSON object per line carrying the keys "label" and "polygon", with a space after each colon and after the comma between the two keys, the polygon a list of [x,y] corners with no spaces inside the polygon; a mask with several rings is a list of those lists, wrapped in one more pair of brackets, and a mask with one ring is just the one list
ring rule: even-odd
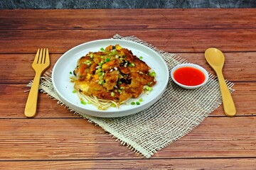
{"label": "reddish-brown wooden plank table under the placemat and tableware", "polygon": [[[223,106],[188,135],[143,159],[107,132],[39,94],[36,118],[23,115],[38,47],[50,69],[82,42],[135,35],[208,72],[204,51],[225,54],[237,115]],[[0,11],[0,169],[256,169],[256,9]]]}

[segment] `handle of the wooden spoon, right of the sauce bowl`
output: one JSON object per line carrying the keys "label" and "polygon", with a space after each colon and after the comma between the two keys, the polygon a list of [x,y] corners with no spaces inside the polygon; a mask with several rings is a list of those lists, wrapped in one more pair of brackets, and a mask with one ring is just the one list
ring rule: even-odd
{"label": "handle of the wooden spoon, right of the sauce bowl", "polygon": [[223,108],[224,108],[225,115],[234,116],[236,113],[235,104],[230,94],[230,91],[228,90],[228,86],[225,83],[223,73],[217,71],[216,74],[220,84],[220,93],[223,98]]}

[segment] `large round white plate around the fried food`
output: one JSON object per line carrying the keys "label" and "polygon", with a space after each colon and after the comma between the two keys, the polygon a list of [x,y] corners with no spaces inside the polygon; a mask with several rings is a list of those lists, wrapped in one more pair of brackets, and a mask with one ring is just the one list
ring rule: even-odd
{"label": "large round white plate around the fried food", "polygon": [[[127,101],[127,104],[124,103],[119,108],[110,107],[106,111],[98,110],[97,106],[92,104],[83,105],[80,103],[78,95],[72,92],[74,84],[70,82],[70,76],[72,76],[70,72],[75,69],[78,59],[88,52],[97,52],[100,51],[101,47],[105,48],[108,45],[116,44],[132,50],[132,53],[137,57],[142,56],[142,60],[151,67],[151,70],[156,72],[156,84],[153,86],[153,90],[146,92],[146,94],[142,93],[139,96],[139,98],[143,99],[140,105],[130,104],[132,101],[139,101],[139,98],[131,98]],[[106,39],[86,42],[65,52],[53,67],[52,79],[56,93],[66,106],[87,115],[112,118],[138,113],[155,103],[166,89],[169,70],[162,57],[149,47],[127,40]]]}

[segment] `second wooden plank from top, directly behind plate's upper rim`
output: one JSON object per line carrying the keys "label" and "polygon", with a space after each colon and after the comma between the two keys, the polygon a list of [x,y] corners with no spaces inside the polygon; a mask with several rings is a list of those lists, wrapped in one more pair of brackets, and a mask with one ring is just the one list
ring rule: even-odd
{"label": "second wooden plank from top, directly behind plate's upper rim", "polygon": [[208,47],[218,47],[223,52],[255,52],[256,44],[256,28],[0,30],[0,53],[34,53],[38,47],[64,53],[81,43],[112,38],[117,33],[137,36],[160,50],[174,53],[205,52]]}

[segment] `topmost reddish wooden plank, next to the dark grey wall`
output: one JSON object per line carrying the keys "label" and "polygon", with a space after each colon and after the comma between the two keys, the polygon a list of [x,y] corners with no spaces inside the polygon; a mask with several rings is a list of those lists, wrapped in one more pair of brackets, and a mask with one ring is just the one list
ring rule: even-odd
{"label": "topmost reddish wooden plank, next to the dark grey wall", "polygon": [[1,10],[0,29],[255,28],[255,8]]}

